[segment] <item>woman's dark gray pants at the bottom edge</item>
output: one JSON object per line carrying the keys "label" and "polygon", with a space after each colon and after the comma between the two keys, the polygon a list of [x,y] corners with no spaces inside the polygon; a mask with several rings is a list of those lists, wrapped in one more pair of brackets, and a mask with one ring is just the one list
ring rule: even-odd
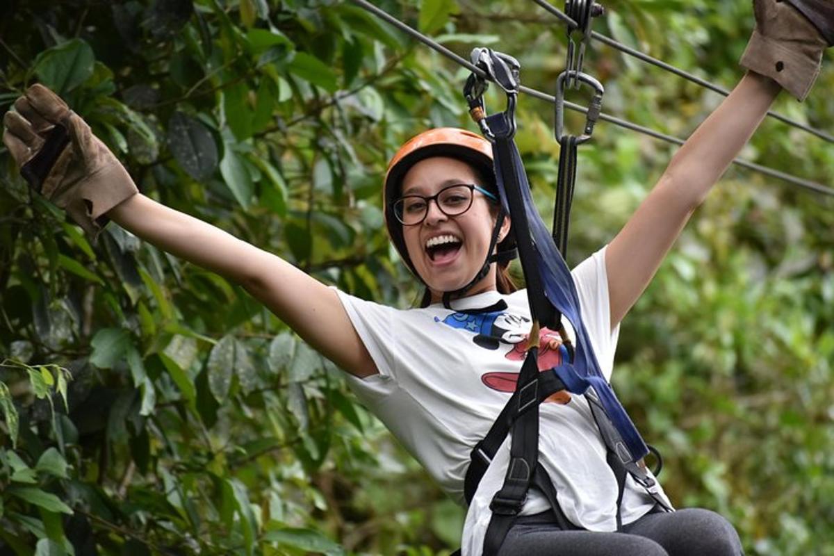
{"label": "woman's dark gray pants at the bottom edge", "polygon": [[500,556],[740,556],[736,529],[701,508],[647,513],[620,533],[563,531],[551,512],[516,520]]}

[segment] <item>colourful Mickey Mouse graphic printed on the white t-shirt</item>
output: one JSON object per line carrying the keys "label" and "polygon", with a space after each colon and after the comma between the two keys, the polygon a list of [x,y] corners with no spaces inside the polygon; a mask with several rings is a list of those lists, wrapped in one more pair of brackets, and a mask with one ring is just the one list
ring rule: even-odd
{"label": "colourful Mickey Mouse graphic printed on the white t-shirt", "polygon": [[[527,338],[530,334],[530,318],[510,313],[451,313],[435,322],[444,323],[452,328],[460,328],[475,334],[472,341],[485,349],[498,349],[501,343],[510,344],[510,351],[505,358],[512,361],[524,361],[526,356]],[[539,370],[549,371],[558,367],[568,358],[567,348],[562,345],[559,333],[542,328],[539,332]],[[515,383],[519,373],[485,373],[481,375],[481,382],[498,392],[515,392]],[[570,394],[557,392],[547,398],[548,402],[567,403]]]}

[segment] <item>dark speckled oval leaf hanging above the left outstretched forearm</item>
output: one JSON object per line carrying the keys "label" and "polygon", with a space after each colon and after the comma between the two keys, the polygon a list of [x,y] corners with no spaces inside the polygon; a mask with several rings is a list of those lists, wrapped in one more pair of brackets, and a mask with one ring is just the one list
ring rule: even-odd
{"label": "dark speckled oval leaf hanging above the left outstretched forearm", "polygon": [[168,148],[194,179],[208,178],[217,169],[219,154],[214,136],[203,123],[182,112],[173,113],[168,120]]}

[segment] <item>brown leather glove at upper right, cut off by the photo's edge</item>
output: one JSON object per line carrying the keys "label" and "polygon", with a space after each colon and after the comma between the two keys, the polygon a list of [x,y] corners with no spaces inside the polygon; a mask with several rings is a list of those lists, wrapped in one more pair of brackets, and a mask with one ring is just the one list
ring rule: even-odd
{"label": "brown leather glove at upper right, cut off by the photo's edge", "polygon": [[834,0],[754,0],[756,28],[741,66],[805,100],[831,46]]}

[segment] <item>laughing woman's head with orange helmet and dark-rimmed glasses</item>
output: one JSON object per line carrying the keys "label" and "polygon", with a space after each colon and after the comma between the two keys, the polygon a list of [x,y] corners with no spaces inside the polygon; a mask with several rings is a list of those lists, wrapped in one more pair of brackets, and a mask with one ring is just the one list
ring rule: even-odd
{"label": "laughing woman's head with orange helmet and dark-rimmed glasses", "polygon": [[[391,158],[383,189],[389,237],[426,286],[423,307],[444,297],[448,307],[454,296],[488,289],[515,291],[508,272],[515,257],[510,218],[498,202],[492,148],[484,138],[456,128],[420,133]],[[420,212],[407,215],[404,209],[414,208],[414,195]],[[459,245],[436,258],[437,249],[430,250],[428,242],[444,235]]]}

